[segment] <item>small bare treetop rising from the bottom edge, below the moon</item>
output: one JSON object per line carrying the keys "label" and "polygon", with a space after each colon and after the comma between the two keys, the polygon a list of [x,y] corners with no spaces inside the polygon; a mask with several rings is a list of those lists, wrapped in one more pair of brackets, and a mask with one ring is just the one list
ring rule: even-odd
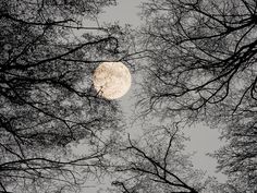
{"label": "small bare treetop rising from the bottom edge, below the moon", "polygon": [[112,184],[124,193],[204,192],[210,178],[193,168],[184,141],[178,124],[147,129],[139,141],[128,136],[115,159],[119,178]]}

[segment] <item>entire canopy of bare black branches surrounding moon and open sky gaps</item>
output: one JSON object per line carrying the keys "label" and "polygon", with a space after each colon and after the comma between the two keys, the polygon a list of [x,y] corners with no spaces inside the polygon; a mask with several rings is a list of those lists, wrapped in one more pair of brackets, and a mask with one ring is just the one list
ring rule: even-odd
{"label": "entire canopy of bare black branches surrounding moon and open sky gaps", "polygon": [[[0,192],[82,192],[106,173],[109,192],[256,192],[257,2],[148,0],[134,34],[98,24],[114,4],[0,0]],[[145,124],[132,138],[91,73],[100,62],[138,59],[139,116],[169,124]],[[228,143],[211,156],[225,183],[183,152],[183,128],[198,121],[222,129]]]}

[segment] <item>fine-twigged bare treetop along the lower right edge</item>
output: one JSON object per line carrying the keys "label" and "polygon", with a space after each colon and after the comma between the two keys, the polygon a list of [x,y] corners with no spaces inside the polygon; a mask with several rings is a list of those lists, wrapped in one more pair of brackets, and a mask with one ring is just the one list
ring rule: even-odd
{"label": "fine-twigged bare treetop along the lower right edge", "polygon": [[250,107],[237,110],[227,120],[222,137],[229,143],[212,156],[218,159],[219,169],[230,177],[229,184],[234,184],[238,192],[256,191],[256,110]]}

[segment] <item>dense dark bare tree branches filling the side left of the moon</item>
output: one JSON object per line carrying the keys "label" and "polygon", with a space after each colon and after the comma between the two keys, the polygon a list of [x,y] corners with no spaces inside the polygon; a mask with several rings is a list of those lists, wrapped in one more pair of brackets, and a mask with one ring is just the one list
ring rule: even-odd
{"label": "dense dark bare tree branches filling the side left of the moon", "polygon": [[[97,96],[90,74],[117,60],[120,29],[85,26],[83,17],[113,3],[0,1],[1,192],[75,192],[105,169],[113,138],[101,133],[117,128],[119,111]],[[87,149],[75,155],[69,144],[82,138]]]}

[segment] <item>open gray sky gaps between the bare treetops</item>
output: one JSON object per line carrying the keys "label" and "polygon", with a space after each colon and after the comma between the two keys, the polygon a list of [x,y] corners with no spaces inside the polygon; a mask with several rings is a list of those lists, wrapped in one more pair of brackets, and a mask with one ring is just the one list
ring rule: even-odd
{"label": "open gray sky gaps between the bare treetops", "polygon": [[[131,24],[134,27],[137,27],[142,24],[138,12],[139,4],[143,1],[147,0],[117,0],[118,5],[105,9],[105,13],[100,14],[99,22],[100,23],[114,23],[119,22],[120,25]],[[122,105],[122,109],[124,114],[127,117],[130,122],[131,116],[134,114],[134,106],[132,105],[135,101],[135,97],[133,96],[133,91],[135,88],[135,83],[132,83],[131,91],[119,99],[119,102]],[[140,133],[138,131],[138,125],[131,128],[130,131],[133,135],[137,135]],[[191,137],[189,142],[186,142],[185,152],[195,153],[193,156],[193,164],[197,169],[203,169],[207,171],[207,174],[217,177],[218,181],[223,182],[225,180],[225,176],[222,173],[216,172],[217,161],[216,159],[206,156],[207,153],[213,153],[223,144],[220,142],[219,131],[211,130],[204,124],[197,124],[195,126],[188,128],[184,131],[185,135]],[[86,192],[95,193],[97,189],[102,188],[103,185],[99,185],[98,188],[89,188]],[[105,191],[103,191],[105,192]]]}

